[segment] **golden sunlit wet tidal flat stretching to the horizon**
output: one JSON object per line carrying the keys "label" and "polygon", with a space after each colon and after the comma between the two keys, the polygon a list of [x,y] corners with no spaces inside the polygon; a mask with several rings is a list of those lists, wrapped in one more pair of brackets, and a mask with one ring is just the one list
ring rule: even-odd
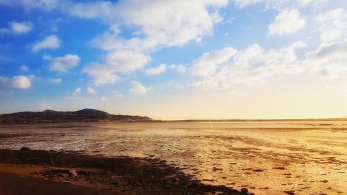
{"label": "golden sunlit wet tidal flat stretching to the horizon", "polygon": [[347,121],[68,123],[0,126],[0,149],[167,160],[255,194],[347,194]]}

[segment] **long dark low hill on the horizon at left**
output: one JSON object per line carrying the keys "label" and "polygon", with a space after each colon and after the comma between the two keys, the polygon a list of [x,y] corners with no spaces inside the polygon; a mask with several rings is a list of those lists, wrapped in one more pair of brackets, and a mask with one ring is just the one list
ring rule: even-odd
{"label": "long dark low hill on the horizon at left", "polygon": [[83,109],[76,112],[44,110],[42,112],[15,112],[0,115],[0,124],[49,123],[74,121],[153,121],[149,117],[131,115],[111,115],[95,109]]}

